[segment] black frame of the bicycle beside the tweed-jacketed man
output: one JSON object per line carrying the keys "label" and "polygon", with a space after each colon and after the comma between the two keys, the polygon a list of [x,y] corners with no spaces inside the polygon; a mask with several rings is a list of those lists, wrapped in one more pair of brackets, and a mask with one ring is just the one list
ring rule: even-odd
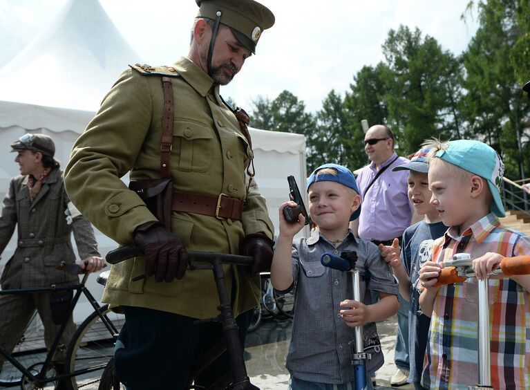
{"label": "black frame of the bicycle beside the tweed-jacketed man", "polygon": [[[68,317],[66,321],[64,321],[61,326],[59,327],[59,331],[57,331],[57,334],[55,335],[55,339],[53,341],[53,344],[50,346],[50,350],[46,354],[46,360],[44,360],[44,363],[42,364],[41,370],[37,374],[33,374],[28,368],[23,366],[19,360],[17,360],[11,353],[8,353],[6,349],[3,348],[3,346],[0,346],[0,355],[3,356],[3,358],[6,358],[8,362],[10,362],[13,366],[15,366],[23,376],[26,376],[29,378],[32,382],[35,382],[37,386],[43,386],[46,383],[54,382],[55,380],[61,380],[65,378],[72,378],[76,375],[81,375],[82,373],[88,373],[91,371],[95,371],[95,368],[91,369],[84,369],[82,371],[75,371],[75,372],[67,372],[61,375],[55,375],[50,378],[46,378],[46,372],[48,369],[52,366],[52,358],[55,355],[55,352],[57,351],[57,348],[59,346],[59,342],[61,340],[61,336],[64,333],[64,330],[66,329],[66,325],[68,323],[68,318],[73,313],[73,310],[77,304],[77,301],[79,300],[79,297],[81,297],[82,294],[85,295],[86,299],[88,299],[88,302],[91,304],[91,306],[94,308],[95,311],[99,313],[100,311],[100,304],[97,303],[96,299],[93,297],[91,292],[86,288],[86,279],[88,278],[88,273],[83,275],[83,279],[79,284],[69,284],[69,285],[52,285],[50,287],[43,287],[43,288],[18,288],[18,289],[12,289],[12,290],[0,290],[0,295],[19,295],[19,294],[32,294],[32,293],[48,293],[48,292],[55,292],[55,291],[73,291],[75,290],[76,293],[73,297],[73,299],[70,301],[70,305],[68,306]],[[105,326],[109,330],[113,330],[115,333],[117,332],[115,326],[112,324],[110,319],[108,319],[105,315],[100,314],[100,318],[102,319],[102,322],[105,324]],[[102,367],[100,367],[101,369]]]}

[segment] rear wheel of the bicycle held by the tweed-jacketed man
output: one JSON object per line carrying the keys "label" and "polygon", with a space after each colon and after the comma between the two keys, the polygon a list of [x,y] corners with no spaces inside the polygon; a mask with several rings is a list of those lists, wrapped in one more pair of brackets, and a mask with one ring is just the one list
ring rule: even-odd
{"label": "rear wheel of the bicycle held by the tweed-jacketed man", "polygon": [[[24,331],[11,355],[24,367],[36,367],[46,360],[44,326],[37,311]],[[22,373],[6,360],[0,367],[0,386],[11,387],[20,384]]]}

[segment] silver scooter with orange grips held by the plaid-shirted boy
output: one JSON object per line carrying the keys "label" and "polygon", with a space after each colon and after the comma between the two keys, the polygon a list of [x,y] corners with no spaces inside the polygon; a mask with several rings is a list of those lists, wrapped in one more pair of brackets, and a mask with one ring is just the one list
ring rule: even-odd
{"label": "silver scooter with orange grips held by the plaid-shirted boy", "polygon": [[[488,276],[502,274],[505,277],[512,275],[530,274],[530,256],[504,257],[500,267],[493,270]],[[442,286],[465,281],[475,277],[473,270],[473,257],[469,253],[458,253],[453,259],[444,261],[444,268],[440,272],[438,281],[434,286]],[[470,389],[492,389],[490,340],[489,340],[489,284],[488,277],[477,280],[478,291],[478,382]]]}

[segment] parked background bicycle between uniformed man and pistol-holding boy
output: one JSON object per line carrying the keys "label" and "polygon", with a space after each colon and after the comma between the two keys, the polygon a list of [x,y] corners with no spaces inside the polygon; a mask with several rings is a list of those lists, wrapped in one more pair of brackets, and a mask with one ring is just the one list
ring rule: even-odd
{"label": "parked background bicycle between uniformed man and pistol-holding boy", "polygon": [[270,272],[261,272],[261,298],[248,331],[255,331],[266,316],[279,319],[291,319],[294,311],[294,288],[289,293],[278,293],[272,287]]}

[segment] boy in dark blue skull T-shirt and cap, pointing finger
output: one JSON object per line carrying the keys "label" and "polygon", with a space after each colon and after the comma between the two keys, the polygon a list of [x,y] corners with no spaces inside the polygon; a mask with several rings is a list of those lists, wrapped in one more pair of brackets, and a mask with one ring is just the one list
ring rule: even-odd
{"label": "boy in dark blue skull T-shirt and cap, pointing finger", "polygon": [[[428,158],[430,147],[419,149],[408,163],[392,168],[392,171],[408,171],[408,199],[418,215],[424,219],[409,226],[403,233],[402,248],[398,239],[392,246],[379,245],[385,261],[392,267],[397,281],[399,293],[410,302],[408,305],[408,382],[414,384],[416,390],[424,387],[422,378],[425,349],[427,346],[430,317],[419,308],[419,270],[422,264],[432,259],[433,241],[443,236],[447,230],[436,207],[431,205],[433,193],[428,186]],[[401,252],[401,256],[400,256]]]}

